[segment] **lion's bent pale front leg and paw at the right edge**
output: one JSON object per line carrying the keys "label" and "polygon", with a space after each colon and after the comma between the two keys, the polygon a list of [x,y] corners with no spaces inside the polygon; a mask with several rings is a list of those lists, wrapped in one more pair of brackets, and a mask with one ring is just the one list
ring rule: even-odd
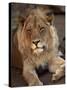
{"label": "lion's bent pale front leg and paw at the right edge", "polygon": [[58,80],[64,76],[65,73],[65,62],[60,57],[55,57],[49,62],[49,71],[53,73],[52,80]]}

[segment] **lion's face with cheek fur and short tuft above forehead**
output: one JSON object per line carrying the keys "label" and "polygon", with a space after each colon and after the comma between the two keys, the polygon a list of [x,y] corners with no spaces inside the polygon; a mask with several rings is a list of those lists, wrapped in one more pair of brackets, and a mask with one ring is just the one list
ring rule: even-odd
{"label": "lion's face with cheek fur and short tuft above forehead", "polygon": [[52,22],[48,21],[47,18],[46,13],[36,11],[36,13],[30,14],[25,21],[23,27],[24,41],[34,54],[40,54],[48,50],[52,44],[50,31]]}

